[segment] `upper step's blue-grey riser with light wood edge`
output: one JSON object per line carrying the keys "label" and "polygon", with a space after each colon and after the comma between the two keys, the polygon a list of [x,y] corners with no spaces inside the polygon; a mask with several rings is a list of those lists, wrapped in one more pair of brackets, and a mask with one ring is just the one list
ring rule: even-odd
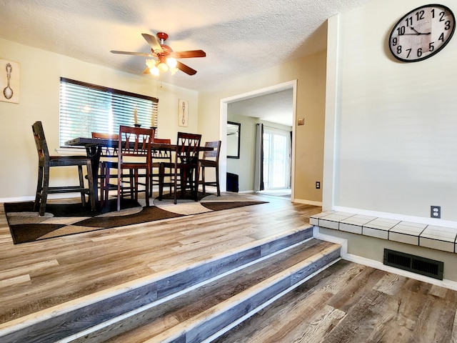
{"label": "upper step's blue-grey riser with light wood edge", "polygon": [[140,312],[193,287],[277,254],[312,237],[312,227],[293,229],[256,244],[221,252],[193,264],[176,266],[134,282],[97,292],[1,324],[0,342],[56,342],[76,337],[96,325]]}

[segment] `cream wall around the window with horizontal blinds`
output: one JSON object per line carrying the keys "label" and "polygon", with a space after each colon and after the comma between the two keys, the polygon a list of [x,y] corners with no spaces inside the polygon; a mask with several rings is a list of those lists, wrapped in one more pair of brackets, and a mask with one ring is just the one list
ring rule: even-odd
{"label": "cream wall around the window with horizontal blinds", "polygon": [[[41,120],[51,154],[59,140],[59,81],[69,79],[159,97],[159,136],[176,139],[177,131],[197,131],[196,91],[163,84],[144,75],[121,73],[49,51],[0,39],[1,59],[19,62],[19,104],[0,101],[0,202],[34,197],[37,177],[36,148],[31,125]],[[189,100],[189,127],[178,126],[178,101]],[[56,184],[76,180],[75,169],[53,171]],[[75,181],[76,182],[76,181]]]}

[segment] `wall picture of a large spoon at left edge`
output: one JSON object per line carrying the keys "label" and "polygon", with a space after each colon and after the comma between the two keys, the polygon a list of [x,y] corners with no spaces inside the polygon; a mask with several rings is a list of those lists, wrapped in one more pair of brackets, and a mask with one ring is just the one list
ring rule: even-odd
{"label": "wall picture of a large spoon at left edge", "polygon": [[0,59],[0,101],[19,104],[19,63]]}

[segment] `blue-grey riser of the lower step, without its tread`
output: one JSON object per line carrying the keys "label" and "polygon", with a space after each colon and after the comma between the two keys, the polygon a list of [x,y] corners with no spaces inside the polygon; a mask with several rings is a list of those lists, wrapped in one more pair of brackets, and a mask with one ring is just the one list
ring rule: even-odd
{"label": "blue-grey riser of the lower step, without its tread", "polygon": [[[238,321],[238,319],[244,317],[246,314],[254,314],[256,309],[260,310],[262,305],[270,299],[287,289],[291,289],[295,284],[300,283],[303,279],[318,272],[318,270],[323,269],[328,264],[336,262],[339,258],[340,248],[333,249],[328,254],[324,254],[313,262],[303,262],[294,267],[293,270],[283,272],[280,276],[276,277],[276,280],[262,282],[262,284],[258,285],[258,292],[250,290],[250,292],[245,294],[241,302],[227,304],[225,308],[220,309],[219,314],[214,315],[214,313],[211,313],[209,317],[201,319],[201,322],[194,323],[194,325],[184,322],[180,326],[185,329],[179,333],[170,332],[179,330],[179,327],[175,327],[169,330],[169,332],[164,332],[160,337],[157,337],[157,342],[202,342],[217,332],[223,332],[227,325]],[[286,274],[286,276],[283,274]],[[169,339],[164,338],[167,336],[169,336]]]}

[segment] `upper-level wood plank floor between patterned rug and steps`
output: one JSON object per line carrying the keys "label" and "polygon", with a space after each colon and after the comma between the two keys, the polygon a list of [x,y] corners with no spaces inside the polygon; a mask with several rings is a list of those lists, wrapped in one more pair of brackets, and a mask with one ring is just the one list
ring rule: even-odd
{"label": "upper-level wood plank floor between patterned rug and steps", "polygon": [[259,199],[268,204],[17,245],[1,206],[0,329],[42,309],[302,227],[321,212]]}

